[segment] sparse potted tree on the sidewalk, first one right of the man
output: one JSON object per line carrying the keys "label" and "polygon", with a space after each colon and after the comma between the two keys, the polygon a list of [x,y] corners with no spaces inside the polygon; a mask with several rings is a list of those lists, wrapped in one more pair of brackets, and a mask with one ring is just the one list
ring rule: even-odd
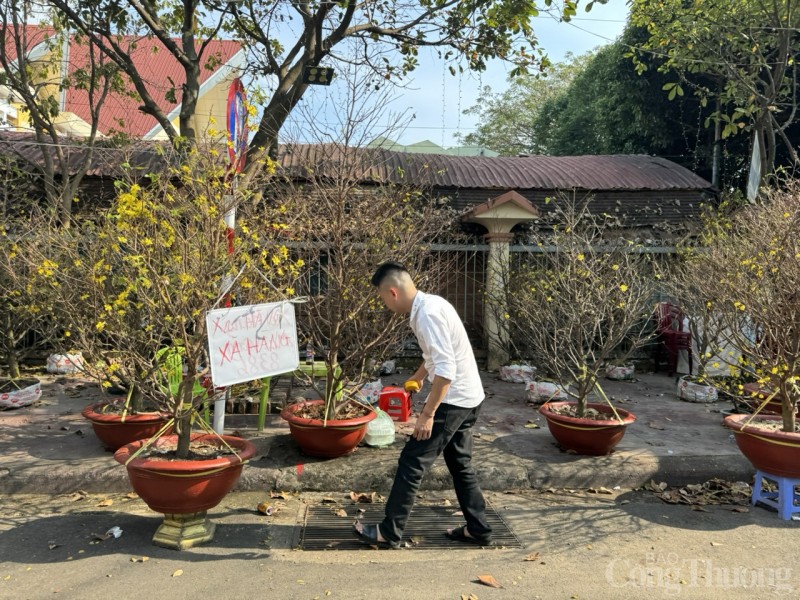
{"label": "sparse potted tree on the sidewalk, first one right of the man", "polygon": [[[589,199],[554,202],[531,233],[527,261],[510,272],[505,316],[518,352],[574,399],[540,408],[551,433],[578,453],[607,454],[634,417],[608,401],[601,377],[610,359],[624,363],[649,340],[656,266],[618,220],[592,214]],[[596,443],[598,426],[605,439]]]}

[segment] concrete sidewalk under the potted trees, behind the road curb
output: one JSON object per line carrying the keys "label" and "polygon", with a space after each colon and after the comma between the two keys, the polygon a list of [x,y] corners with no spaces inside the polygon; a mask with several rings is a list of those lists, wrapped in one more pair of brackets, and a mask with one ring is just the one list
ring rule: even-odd
{"label": "concrete sidewalk under the potted trees, behind the road curb", "polygon": [[[755,472],[722,427],[726,402],[694,404],[675,395],[665,374],[637,375],[633,382],[605,381],[604,389],[637,421],[617,450],[604,457],[581,457],[560,450],[544,418],[525,400],[523,384],[482,373],[487,399],[476,426],[474,463],[487,490],[519,488],[635,488],[651,479],[670,485],[719,477],[750,481]],[[130,489],[125,469],[95,437],[81,410],[100,397],[97,386],[69,376],[43,376],[43,394],[34,405],[0,411],[0,492],[57,494],[122,492]],[[402,385],[403,374],[383,378]],[[425,390],[423,390],[424,392]],[[418,394],[415,408],[424,398]],[[258,432],[256,415],[227,415],[226,432],[237,432],[258,447],[245,466],[243,491],[388,492],[404,432],[413,416],[398,423],[394,445],[359,447],[353,454],[320,460],[304,456],[277,415]],[[535,423],[539,428],[527,428]],[[437,461],[423,489],[450,489],[443,461]]]}

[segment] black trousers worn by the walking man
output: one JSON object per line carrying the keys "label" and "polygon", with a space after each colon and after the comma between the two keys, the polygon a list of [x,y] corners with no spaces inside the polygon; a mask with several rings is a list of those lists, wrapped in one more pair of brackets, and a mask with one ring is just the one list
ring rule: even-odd
{"label": "black trousers worn by the walking man", "polygon": [[433,418],[430,439],[419,441],[412,437],[406,442],[386,502],[386,517],[379,525],[385,540],[399,542],[403,537],[422,477],[440,454],[444,454],[453,477],[458,504],[470,534],[477,538],[491,535],[492,529],[486,522],[486,501],[472,468],[472,426],[479,412],[480,405],[460,408],[440,404]]}

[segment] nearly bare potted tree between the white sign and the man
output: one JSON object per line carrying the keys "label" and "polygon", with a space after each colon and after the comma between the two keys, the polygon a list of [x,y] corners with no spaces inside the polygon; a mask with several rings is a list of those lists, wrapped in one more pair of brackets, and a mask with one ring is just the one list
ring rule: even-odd
{"label": "nearly bare potted tree between the white sign and the man", "polygon": [[[290,235],[305,264],[300,293],[308,297],[298,313],[299,339],[301,347],[310,344],[319,358],[314,369],[324,375],[324,386],[313,373],[309,377],[320,401],[294,403],[282,416],[304,452],[327,458],[363,439],[375,413],[354,399],[354,391],[377,376],[373,365],[390,358],[409,335],[405,320],[389,313],[370,285],[375,267],[402,262],[421,288],[435,290],[447,261],[432,259],[431,243],[454,223],[452,211],[404,185],[398,174],[390,176],[384,151],[364,148],[386,117],[355,101],[363,97],[363,78],[356,72],[346,79],[342,104],[351,110],[340,127],[314,129],[311,137],[327,143],[287,146],[285,169],[269,190],[295,217]],[[307,121],[314,128],[311,116]]]}

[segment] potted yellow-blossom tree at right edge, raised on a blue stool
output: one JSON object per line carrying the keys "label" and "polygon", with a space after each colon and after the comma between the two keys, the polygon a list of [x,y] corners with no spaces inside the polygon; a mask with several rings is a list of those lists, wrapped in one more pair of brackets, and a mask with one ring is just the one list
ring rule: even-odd
{"label": "potted yellow-blossom tree at right edge, raised on a blue stool", "polygon": [[[740,355],[736,366],[768,390],[754,415],[731,415],[725,425],[734,429],[757,469],[795,478],[800,477],[799,194],[796,180],[765,190],[759,204],[733,216],[726,235],[703,256],[717,273],[713,283],[723,299],[726,330]],[[780,416],[759,414],[774,399],[780,401]]]}

